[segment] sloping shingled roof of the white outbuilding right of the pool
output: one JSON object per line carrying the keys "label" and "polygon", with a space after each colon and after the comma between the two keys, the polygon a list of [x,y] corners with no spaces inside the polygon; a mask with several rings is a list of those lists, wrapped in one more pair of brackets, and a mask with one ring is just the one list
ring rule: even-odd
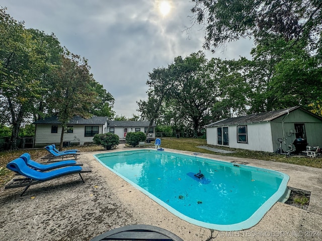
{"label": "sloping shingled roof of the white outbuilding right of the pool", "polygon": [[294,107],[290,107],[290,108],[286,108],[286,109],[273,110],[273,111],[268,111],[268,112],[264,112],[264,113],[249,114],[249,115],[245,115],[245,116],[226,118],[226,119],[222,119],[221,121],[206,125],[205,127],[270,122],[270,121],[273,121],[274,119],[276,119],[284,114],[287,114],[288,112],[291,112],[295,109],[298,109],[298,108],[300,108],[300,107],[294,106]]}

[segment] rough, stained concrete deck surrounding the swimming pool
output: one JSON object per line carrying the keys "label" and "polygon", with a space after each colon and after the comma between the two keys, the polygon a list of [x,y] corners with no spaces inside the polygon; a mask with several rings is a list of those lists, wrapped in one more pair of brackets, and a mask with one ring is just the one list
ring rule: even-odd
{"label": "rough, stained concrete deck surrounding the swimming pool", "polygon": [[[188,223],[103,167],[94,154],[78,160],[92,173],[70,175],[23,188],[0,190],[0,240],[90,240],[116,227],[148,224],[165,228],[185,241],[322,240],[322,169],[293,164],[233,158],[201,157],[272,169],[290,176],[288,186],[311,192],[308,210],[277,202],[255,226],[243,231],[217,231]],[[141,149],[142,150],[142,149]],[[192,155],[192,152],[166,149]],[[314,159],[312,159],[314,161]]]}

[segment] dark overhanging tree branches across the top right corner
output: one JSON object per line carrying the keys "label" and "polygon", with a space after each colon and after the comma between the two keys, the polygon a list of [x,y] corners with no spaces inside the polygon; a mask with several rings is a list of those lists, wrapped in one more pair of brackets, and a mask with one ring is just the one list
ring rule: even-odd
{"label": "dark overhanging tree branches across the top right corner", "polygon": [[316,0],[192,0],[194,20],[205,25],[206,49],[240,38],[255,42],[271,38],[303,42],[321,48],[322,2]]}

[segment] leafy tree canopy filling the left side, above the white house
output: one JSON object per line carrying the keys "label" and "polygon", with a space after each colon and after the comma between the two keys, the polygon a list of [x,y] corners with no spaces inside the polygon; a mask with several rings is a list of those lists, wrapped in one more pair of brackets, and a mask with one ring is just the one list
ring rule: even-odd
{"label": "leafy tree canopy filling the left side, above the white house", "polygon": [[[54,34],[26,29],[0,8],[0,123],[12,126],[58,114],[63,125],[79,114],[114,116],[114,98],[90,73],[87,59],[64,50]],[[61,142],[62,143],[62,142]]]}

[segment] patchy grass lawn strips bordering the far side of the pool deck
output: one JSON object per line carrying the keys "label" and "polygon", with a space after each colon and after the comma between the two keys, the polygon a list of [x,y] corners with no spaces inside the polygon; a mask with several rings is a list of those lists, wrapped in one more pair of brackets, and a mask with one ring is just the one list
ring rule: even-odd
{"label": "patchy grass lawn strips bordering the far side of the pool deck", "polygon": [[[217,152],[208,151],[205,149],[197,148],[197,146],[206,146],[205,139],[193,139],[193,138],[162,138],[161,146],[165,149],[171,148],[182,151],[191,151],[191,152],[199,152],[199,153],[209,153],[209,154],[217,154],[222,156],[232,156],[232,157],[240,157],[240,158],[251,158],[251,159],[259,159],[264,161],[275,161],[275,162],[284,162],[297,164],[302,166],[316,167],[322,168],[322,157],[318,158],[309,158],[302,157],[299,158],[297,156],[286,157],[285,155],[272,155],[272,153],[268,152],[258,152],[258,151],[248,151],[243,149],[233,149],[233,148],[225,148],[225,147],[216,147],[217,149],[222,150],[230,150],[235,151],[235,153],[231,154],[222,154]],[[78,149],[81,152],[91,152],[91,151],[99,151],[102,150],[100,146],[77,146],[71,147],[69,149]],[[66,148],[64,150],[67,150]],[[33,149],[33,150],[17,150],[17,151],[9,151],[9,152],[1,152],[0,153],[0,187],[4,186],[8,181],[10,181],[14,172],[8,170],[6,168],[7,163],[18,158],[21,154],[28,152],[31,155],[33,160],[39,160],[41,157],[47,154],[45,149]],[[41,161],[40,161],[41,162]]]}

